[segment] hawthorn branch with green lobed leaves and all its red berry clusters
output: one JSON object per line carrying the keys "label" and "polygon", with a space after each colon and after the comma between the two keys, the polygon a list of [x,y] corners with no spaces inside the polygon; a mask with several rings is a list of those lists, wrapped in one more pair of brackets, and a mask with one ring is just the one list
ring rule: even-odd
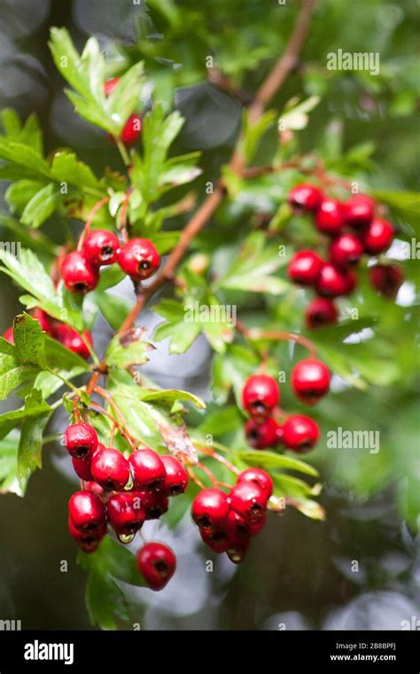
{"label": "hawthorn branch with green lobed leaves and all its red berry clusters", "polygon": [[[146,519],[164,515],[174,525],[192,502],[205,544],[235,563],[266,510],[323,520],[318,470],[297,455],[319,441],[314,418],[320,442],[331,419],[307,405],[328,394],[331,372],[369,396],[403,366],[391,357],[388,310],[379,325],[375,308],[388,302],[398,311],[405,272],[383,255],[395,236],[410,242],[404,219],[418,195],[369,189],[359,177],[365,146],[339,157],[300,151],[299,130],[319,97],[270,108],[299,63],[314,6],[302,3],[283,54],[251,97],[238,82],[250,67],[245,51],[236,70],[223,59],[206,64],[214,86],[245,105],[233,153],[204,183],[206,157],[173,152],[184,123],[173,98],[181,82],[168,87],[155,77],[156,61],[136,50],[107,61],[97,39],[80,54],[66,29],[51,29],[75,113],[117,146],[124,170],[106,167],[98,177],[69,148],[45,156],[35,115],[22,123],[12,110],[2,114],[0,176],[11,181],[15,215],[2,222],[24,246],[19,255],[0,251],[1,270],[24,291],[25,310],[0,340],[1,399],[17,392],[24,401],[0,415],[1,488],[24,496],[51,417],[64,408],[63,443],[81,480],[69,529],[88,574],[91,622],[103,628],[128,620],[119,581],[159,589],[175,571],[164,542],[136,555],[125,546]],[[192,10],[186,17],[185,31],[196,20]],[[159,43],[155,59],[168,58],[182,35],[175,5],[160,20],[172,46]],[[43,233],[53,214],[77,221],[76,236],[69,228],[57,245]],[[134,301],[110,292],[127,275]],[[162,318],[153,334],[142,328],[146,306]],[[90,333],[99,314],[114,331],[100,355]],[[405,320],[414,325],[414,312]],[[367,331],[369,339],[354,340]],[[141,369],[159,341],[182,354],[200,334],[214,351],[207,405],[159,388]],[[414,526],[416,475],[403,490],[401,511]]]}

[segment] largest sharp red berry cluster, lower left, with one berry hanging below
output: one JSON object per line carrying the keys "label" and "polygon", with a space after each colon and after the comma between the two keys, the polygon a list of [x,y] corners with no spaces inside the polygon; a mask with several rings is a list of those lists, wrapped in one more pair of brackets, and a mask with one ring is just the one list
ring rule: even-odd
{"label": "largest sharp red berry cluster, lower left, with one berry hanging below", "polygon": [[[68,504],[68,529],[85,553],[93,553],[110,524],[121,543],[129,543],[144,521],[167,512],[169,498],[183,494],[188,475],[172,455],[151,449],[121,451],[98,441],[95,428],[75,423],[64,434],[74,472],[82,480]],[[175,572],[175,554],[153,542],[139,549],[137,567],[153,590],[160,590]]]}

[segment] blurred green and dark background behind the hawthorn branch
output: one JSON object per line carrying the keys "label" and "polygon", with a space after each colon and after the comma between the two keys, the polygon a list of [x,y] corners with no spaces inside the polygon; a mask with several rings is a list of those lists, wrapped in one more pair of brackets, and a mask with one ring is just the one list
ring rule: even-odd
{"label": "blurred green and dark background behind the hawthorn branch", "polygon": [[[24,118],[39,114],[47,150],[74,146],[94,168],[121,169],[113,145],[74,115],[47,47],[51,26],[68,27],[79,48],[97,35],[109,74],[145,59],[158,97],[169,101],[175,87],[175,105],[186,117],[176,150],[203,151],[204,184],[229,157],[241,115],[237,98],[207,81],[207,57],[249,100],[284,48],[298,9],[292,0],[0,0],[0,106],[14,107]],[[316,151],[330,169],[371,190],[418,190],[418,20],[414,0],[318,2],[299,67],[273,101],[282,110],[294,96],[321,97],[307,128],[292,140],[297,153]],[[338,49],[378,52],[380,73],[328,71],[327,54]],[[274,132],[261,145],[261,163],[275,144]],[[221,208],[217,226],[227,226],[234,237],[251,217],[250,203],[271,215],[288,184],[277,176],[257,189],[258,201],[250,192]],[[418,239],[419,214],[410,203],[397,201],[393,216],[401,240]],[[0,231],[8,240],[9,233]],[[60,239],[58,218],[51,218],[47,231]],[[206,246],[206,236],[200,245]],[[391,255],[399,258],[403,250],[397,242]],[[309,460],[324,478],[327,520],[311,521],[291,509],[272,518],[241,568],[216,560],[214,572],[206,573],[197,532],[182,521],[166,537],[182,548],[176,580],[161,595],[141,590],[132,598],[139,602],[134,623],[144,629],[401,629],[401,621],[420,617],[418,259],[403,264],[408,283],[397,304],[377,298],[364,280],[352,299],[361,317],[379,319],[377,352],[388,360],[383,381],[377,372],[378,384],[368,391],[338,381],[337,395],[316,410],[323,438],[338,426],[379,430],[380,451],[331,450],[323,440]],[[19,291],[4,275],[0,297],[3,331],[19,310]],[[299,329],[304,303],[300,296],[292,305],[279,303],[272,316],[282,329]],[[258,323],[259,310],[248,308],[248,319]],[[327,337],[323,346],[334,351]],[[286,353],[279,347],[279,360]],[[368,371],[377,367],[373,355],[363,360]],[[196,379],[203,379],[199,372]],[[285,407],[288,402],[286,394]],[[75,566],[66,531],[74,482],[54,459],[60,455],[59,447],[48,445],[43,471],[32,477],[26,498],[0,500],[0,619],[21,620],[24,629],[89,628],[85,576]],[[67,573],[59,571],[60,560],[68,560]]]}

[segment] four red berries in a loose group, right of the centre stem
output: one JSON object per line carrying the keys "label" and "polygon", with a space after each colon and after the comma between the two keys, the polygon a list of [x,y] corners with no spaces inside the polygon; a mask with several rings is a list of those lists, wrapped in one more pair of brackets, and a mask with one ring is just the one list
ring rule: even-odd
{"label": "four red berries in a loose group, right of the centre stem", "polygon": [[[314,357],[299,361],[292,370],[292,389],[306,404],[315,404],[330,390],[328,367]],[[280,402],[277,382],[268,374],[253,374],[245,381],[242,403],[252,419],[245,424],[245,436],[256,450],[282,443],[288,450],[304,453],[319,438],[314,419],[304,414],[291,414],[280,424],[273,416]]]}

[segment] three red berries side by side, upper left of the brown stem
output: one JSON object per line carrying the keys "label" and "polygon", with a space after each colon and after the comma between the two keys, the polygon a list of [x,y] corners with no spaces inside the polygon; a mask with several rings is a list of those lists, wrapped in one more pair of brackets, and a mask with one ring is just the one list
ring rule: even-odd
{"label": "three red berries side by side, upper left of the brown stem", "polygon": [[143,281],[159,268],[160,256],[149,239],[129,239],[121,245],[113,231],[94,230],[81,250],[66,255],[61,278],[71,293],[84,294],[97,287],[100,267],[115,262],[134,281]]}

